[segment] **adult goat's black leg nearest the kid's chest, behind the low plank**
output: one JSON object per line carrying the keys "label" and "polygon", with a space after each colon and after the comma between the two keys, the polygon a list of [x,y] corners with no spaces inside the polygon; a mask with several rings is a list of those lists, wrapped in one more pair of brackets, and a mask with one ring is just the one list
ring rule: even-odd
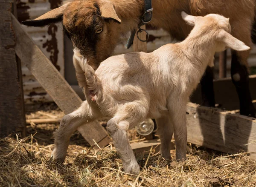
{"label": "adult goat's black leg nearest the kid's chest, behind the low plank", "polygon": [[213,89],[213,68],[207,66],[201,79],[202,105],[215,107],[215,95]]}

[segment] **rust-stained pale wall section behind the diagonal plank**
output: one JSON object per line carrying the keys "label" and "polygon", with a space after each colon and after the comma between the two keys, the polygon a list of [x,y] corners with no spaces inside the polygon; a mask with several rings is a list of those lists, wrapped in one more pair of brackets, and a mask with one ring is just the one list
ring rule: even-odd
{"label": "rust-stained pale wall section behind the diagonal plank", "polygon": [[[21,22],[35,19],[51,9],[61,6],[61,4],[62,0],[17,0],[18,20]],[[49,27],[22,26],[64,76],[64,40],[61,24],[52,24]],[[53,101],[24,65],[22,66],[22,74],[26,104]]]}

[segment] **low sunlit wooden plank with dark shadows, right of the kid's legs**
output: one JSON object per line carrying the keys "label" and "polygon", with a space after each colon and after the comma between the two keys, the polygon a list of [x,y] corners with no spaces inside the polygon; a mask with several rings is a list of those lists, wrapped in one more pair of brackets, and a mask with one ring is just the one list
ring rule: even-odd
{"label": "low sunlit wooden plank with dark shadows, right of the kid's legs", "polygon": [[192,103],[187,112],[188,142],[221,152],[256,153],[256,119]]}

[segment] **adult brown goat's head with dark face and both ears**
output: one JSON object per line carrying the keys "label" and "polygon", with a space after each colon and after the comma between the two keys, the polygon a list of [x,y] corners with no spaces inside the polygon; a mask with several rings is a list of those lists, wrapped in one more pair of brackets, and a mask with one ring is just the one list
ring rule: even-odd
{"label": "adult brown goat's head with dark face and both ears", "polygon": [[[96,69],[108,58],[118,40],[121,20],[115,7],[107,0],[73,0],[53,9],[35,20],[24,21],[26,26],[47,26],[63,22],[63,29],[81,55]],[[113,23],[113,24],[110,24]]]}

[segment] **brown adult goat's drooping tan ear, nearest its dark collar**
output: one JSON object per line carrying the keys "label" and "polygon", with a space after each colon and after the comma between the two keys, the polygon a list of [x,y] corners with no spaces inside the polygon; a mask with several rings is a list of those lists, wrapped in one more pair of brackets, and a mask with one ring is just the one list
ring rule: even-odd
{"label": "brown adult goat's drooping tan ear, nearest its dark collar", "polygon": [[116,10],[114,8],[114,5],[109,1],[102,2],[100,6],[100,12],[101,16],[105,19],[112,19],[116,21],[117,23],[121,23],[120,18],[116,14]]}

